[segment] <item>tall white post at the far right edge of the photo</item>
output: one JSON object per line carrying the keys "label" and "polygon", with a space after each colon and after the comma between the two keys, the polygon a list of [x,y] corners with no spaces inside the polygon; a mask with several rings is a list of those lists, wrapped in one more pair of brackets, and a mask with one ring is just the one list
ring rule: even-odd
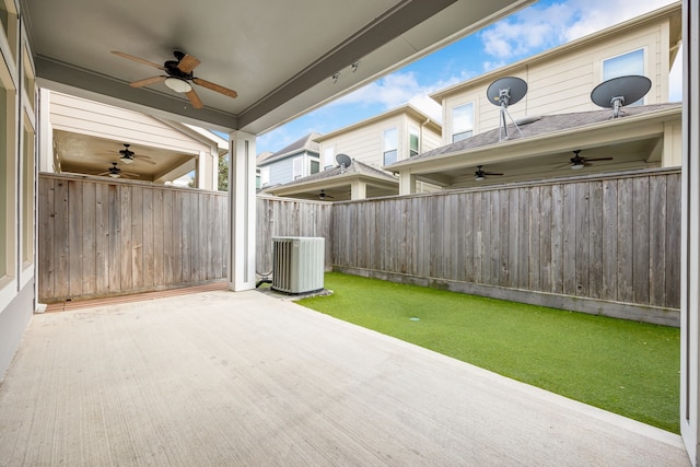
{"label": "tall white post at the far right edge of the photo", "polygon": [[682,226],[680,434],[693,466],[700,453],[700,5],[682,2]]}

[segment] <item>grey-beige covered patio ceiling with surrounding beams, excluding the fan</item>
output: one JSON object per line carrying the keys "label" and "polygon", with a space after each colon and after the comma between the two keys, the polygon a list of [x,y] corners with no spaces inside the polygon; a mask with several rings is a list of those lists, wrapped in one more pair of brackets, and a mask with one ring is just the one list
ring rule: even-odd
{"label": "grey-beige covered patio ceiling with surrounding beams, excluding the fan", "polygon": [[[22,11],[39,85],[258,135],[532,2],[22,0]],[[195,85],[205,105],[196,109],[163,83],[131,87],[162,71],[110,54],[161,65],[174,49],[237,98]]]}

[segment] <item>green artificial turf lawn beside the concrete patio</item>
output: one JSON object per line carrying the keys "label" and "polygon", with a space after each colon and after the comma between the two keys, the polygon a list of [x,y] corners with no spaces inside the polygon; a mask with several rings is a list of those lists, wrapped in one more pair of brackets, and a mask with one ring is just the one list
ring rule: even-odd
{"label": "green artificial turf lawn beside the concrete patio", "polygon": [[679,433],[677,328],[336,272],[325,287],[299,303]]}

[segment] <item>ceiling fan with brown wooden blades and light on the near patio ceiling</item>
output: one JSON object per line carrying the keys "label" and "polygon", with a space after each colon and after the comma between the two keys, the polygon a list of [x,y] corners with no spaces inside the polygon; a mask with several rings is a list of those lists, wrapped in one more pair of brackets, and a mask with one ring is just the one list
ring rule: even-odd
{"label": "ceiling fan with brown wooden blades and light on the near patio ceiling", "polygon": [[113,50],[112,52],[119,57],[128,58],[129,60],[133,60],[142,65],[148,65],[150,67],[158,68],[159,70],[162,70],[166,73],[164,75],[161,74],[158,77],[144,78],[143,80],[132,81],[129,83],[131,87],[143,87],[149,84],[165,83],[165,85],[171,90],[178,93],[185,93],[190,104],[195,108],[203,108],[205,105],[199,98],[199,95],[197,95],[197,92],[195,92],[195,89],[192,87],[191,83],[198,84],[202,87],[207,87],[208,90],[218,92],[229,97],[236,97],[238,95],[233,90],[230,90],[217,83],[212,83],[211,81],[202,80],[201,78],[195,77],[192,74],[192,71],[201,62],[197,59],[197,57],[189,54],[185,54],[182,50],[173,51],[173,55],[177,60],[167,60],[162,66],[154,63],[150,60],[145,60],[143,58],[125,54],[122,51]]}

